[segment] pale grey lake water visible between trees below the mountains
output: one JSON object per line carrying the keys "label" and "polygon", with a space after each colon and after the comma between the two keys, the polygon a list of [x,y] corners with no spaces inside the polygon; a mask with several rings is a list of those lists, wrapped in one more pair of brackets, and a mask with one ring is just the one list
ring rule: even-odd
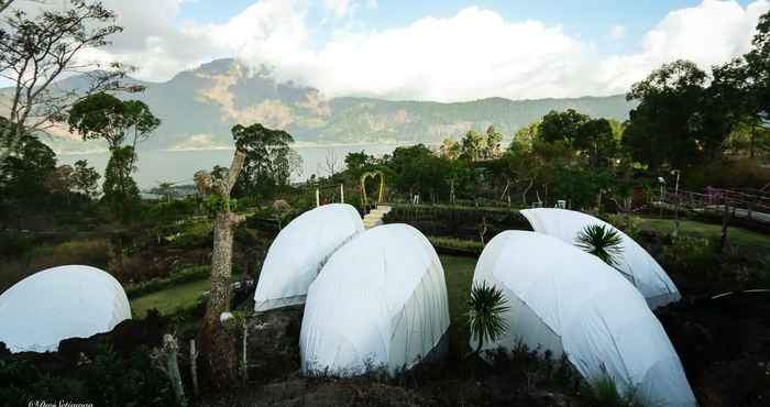
{"label": "pale grey lake water visible between trees below the mountains", "polygon": [[[311,174],[328,176],[329,162],[334,162],[334,172],[344,169],[344,158],[348,153],[365,151],[374,156],[391,154],[396,144],[348,144],[333,146],[295,146],[294,150],[302,157],[302,173],[294,180],[304,180]],[[140,151],[139,169],[133,177],[141,189],[148,189],[158,183],[170,182],[178,185],[193,184],[193,174],[199,169],[211,170],[215,165],[229,167],[232,162],[232,150],[197,150],[197,151]],[[57,155],[59,165],[73,165],[78,160],[87,160],[89,166],[99,174],[105,174],[109,153],[61,154]],[[103,178],[102,178],[103,180]]]}

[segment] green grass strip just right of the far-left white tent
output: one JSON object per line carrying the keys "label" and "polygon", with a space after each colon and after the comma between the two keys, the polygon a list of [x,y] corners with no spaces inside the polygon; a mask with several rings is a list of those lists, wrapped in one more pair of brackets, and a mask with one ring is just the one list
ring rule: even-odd
{"label": "green grass strip just right of the far-left white tent", "polygon": [[174,287],[151,293],[131,300],[133,318],[144,318],[147,310],[157,308],[161,315],[172,315],[179,308],[195,304],[204,292],[210,287],[208,278],[184,283]]}

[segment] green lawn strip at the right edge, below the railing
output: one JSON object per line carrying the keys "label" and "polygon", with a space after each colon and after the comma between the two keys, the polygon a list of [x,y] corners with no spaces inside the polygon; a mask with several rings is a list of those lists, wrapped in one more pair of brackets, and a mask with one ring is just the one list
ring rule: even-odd
{"label": "green lawn strip at the right edge, below the railing", "polygon": [[[671,232],[674,222],[671,219],[639,218],[642,229],[652,229],[661,232]],[[722,226],[695,222],[691,220],[680,221],[680,232],[703,238],[721,237]],[[754,246],[770,250],[770,235],[752,232],[750,230],[729,227],[727,229],[727,242],[745,246]]]}

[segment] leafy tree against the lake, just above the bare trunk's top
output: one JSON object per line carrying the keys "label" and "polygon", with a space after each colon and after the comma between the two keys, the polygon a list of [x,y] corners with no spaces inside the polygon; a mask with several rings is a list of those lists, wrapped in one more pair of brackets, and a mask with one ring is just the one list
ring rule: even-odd
{"label": "leafy tree against the lake, just above the bare trunk's top", "polygon": [[273,193],[275,186],[287,185],[293,173],[301,168],[301,158],[292,150],[292,135],[271,130],[260,123],[232,128],[235,147],[245,154],[239,183],[248,195]]}

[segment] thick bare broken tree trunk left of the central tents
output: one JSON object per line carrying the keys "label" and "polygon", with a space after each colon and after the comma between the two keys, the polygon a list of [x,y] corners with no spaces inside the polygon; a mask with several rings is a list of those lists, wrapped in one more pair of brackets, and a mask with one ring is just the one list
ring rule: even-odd
{"label": "thick bare broken tree trunk left of the central tents", "polygon": [[235,338],[221,324],[220,316],[230,308],[232,276],[233,227],[245,218],[230,211],[230,191],[241,173],[245,155],[237,151],[227,180],[215,187],[224,201],[213,220],[213,253],[211,255],[211,292],[204,316],[201,351],[209,380],[216,388],[230,387],[235,380],[238,358]]}

